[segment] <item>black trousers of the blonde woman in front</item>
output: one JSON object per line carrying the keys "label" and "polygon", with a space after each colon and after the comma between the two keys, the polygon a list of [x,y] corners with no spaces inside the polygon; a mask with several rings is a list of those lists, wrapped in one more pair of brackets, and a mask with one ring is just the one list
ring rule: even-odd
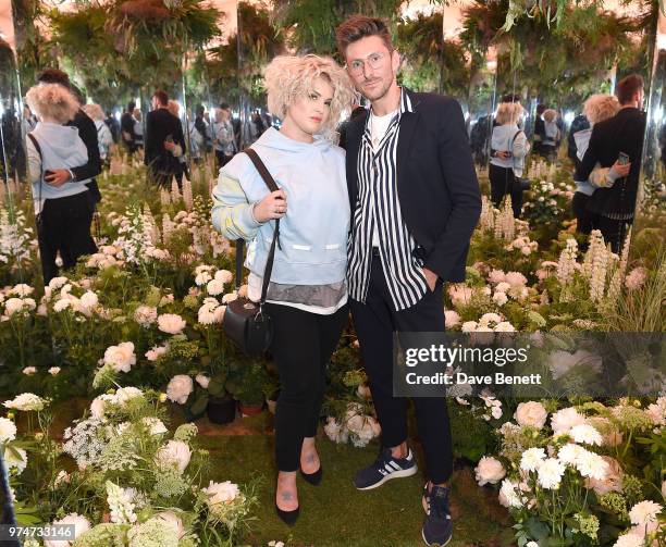
{"label": "black trousers of the blonde woman in front", "polygon": [[275,462],[280,471],[298,471],[304,437],[317,434],[326,365],[349,318],[347,306],[320,315],[267,303],[273,319],[271,351],[280,373],[275,408]]}

